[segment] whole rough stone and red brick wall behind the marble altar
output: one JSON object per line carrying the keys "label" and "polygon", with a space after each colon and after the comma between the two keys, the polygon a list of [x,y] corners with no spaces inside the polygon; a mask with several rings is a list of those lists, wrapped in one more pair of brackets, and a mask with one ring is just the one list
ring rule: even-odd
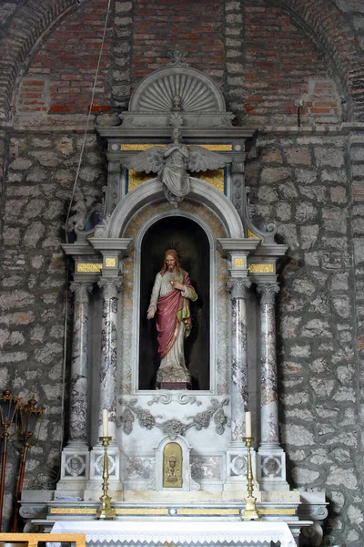
{"label": "whole rough stone and red brick wall behind the marble altar", "polygon": [[[54,484],[64,436],[67,280],[59,245],[65,242],[106,4],[9,0],[0,6],[0,387],[8,382],[24,397],[34,390],[46,406],[42,438],[29,455],[28,487],[39,488],[42,480],[48,488]],[[361,2],[163,0],[153,12],[149,4],[111,3],[92,110],[126,108],[138,79],[165,66],[167,51],[178,44],[191,67],[217,81],[239,122],[259,129],[247,167],[251,209],[258,224],[277,222],[278,241],[290,246],[278,297],[278,366],[291,486],[327,489],[327,542],[359,547]],[[303,101],[299,111],[296,100]],[[77,190],[100,201],[105,167],[90,129]],[[6,517],[18,454],[9,455]]]}

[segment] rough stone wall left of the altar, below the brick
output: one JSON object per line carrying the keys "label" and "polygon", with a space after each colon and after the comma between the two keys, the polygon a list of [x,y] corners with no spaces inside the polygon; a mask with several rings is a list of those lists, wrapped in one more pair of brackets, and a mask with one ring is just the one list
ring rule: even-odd
{"label": "rough stone wall left of the altar, below the brick", "polygon": [[[55,488],[67,415],[65,325],[72,330],[72,300],[66,308],[67,268],[60,244],[83,136],[27,131],[11,133],[6,149],[2,200],[0,290],[0,387],[45,405],[40,438],[29,451],[25,487]],[[78,188],[100,201],[105,162],[94,135],[87,137],[86,164]],[[6,466],[5,521],[13,511],[21,444],[10,440]]]}

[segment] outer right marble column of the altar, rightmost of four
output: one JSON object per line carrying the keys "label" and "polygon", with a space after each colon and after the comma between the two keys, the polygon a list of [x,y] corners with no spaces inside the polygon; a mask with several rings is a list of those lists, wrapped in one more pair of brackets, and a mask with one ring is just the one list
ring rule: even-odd
{"label": "outer right marble column of the altar, rightmost of four", "polygon": [[278,447],[275,296],[278,284],[258,284],[260,295],[260,446]]}

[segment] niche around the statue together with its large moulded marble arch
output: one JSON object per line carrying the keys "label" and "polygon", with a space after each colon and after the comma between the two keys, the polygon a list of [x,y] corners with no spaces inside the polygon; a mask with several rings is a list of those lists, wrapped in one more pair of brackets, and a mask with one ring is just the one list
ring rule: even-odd
{"label": "niche around the statue together with its large moulded marble arch", "polygon": [[[147,249],[143,253],[143,244],[149,236]],[[195,253],[191,248],[196,245],[199,233],[200,249]],[[156,241],[154,241],[153,235]],[[150,237],[152,240],[150,241]],[[121,393],[136,393],[139,389],[155,389],[153,375],[141,362],[149,363],[149,369],[157,372],[157,351],[155,355],[142,347],[156,346],[155,326],[146,325],[147,307],[151,287],[157,272],[162,267],[164,252],[177,246],[181,261],[197,289],[198,300],[196,322],[193,321],[192,356],[189,369],[194,378],[193,386],[199,391],[222,394],[228,384],[227,367],[221,363],[228,361],[228,277],[227,256],[223,247],[235,242],[237,250],[254,250],[258,240],[244,238],[244,227],[237,210],[227,197],[205,181],[191,178],[191,189],[186,200],[178,208],[171,206],[164,197],[163,184],[157,179],[146,181],[128,193],[120,201],[109,217],[106,229],[96,229],[95,237],[90,240],[94,249],[107,253],[112,258],[110,245],[117,241],[127,248],[129,253],[122,265],[123,288],[121,292],[122,325],[120,328],[120,383]],[[155,252],[148,250],[156,248]],[[108,248],[108,249],[107,249]],[[147,253],[148,259],[143,255]],[[195,260],[194,260],[195,259]],[[146,263],[154,268],[146,273]],[[147,283],[146,283],[147,278]],[[147,284],[148,290],[143,292]],[[207,286],[204,286],[204,285]],[[129,303],[133,302],[130,306]],[[196,310],[195,310],[196,311]],[[202,317],[200,316],[202,315]],[[207,325],[202,325],[203,323]],[[194,336],[194,331],[198,335]],[[205,335],[201,335],[201,331]],[[218,333],[218,336],[217,336]],[[199,339],[200,338],[200,339]],[[132,344],[126,343],[132,340]],[[143,351],[143,349],[145,351]],[[188,349],[187,349],[188,351]],[[142,353],[142,356],[140,355]],[[154,363],[153,363],[154,361]],[[198,363],[198,366],[197,366]],[[220,363],[220,366],[217,366]],[[205,367],[205,370],[201,370]],[[195,370],[198,368],[199,370]],[[223,370],[217,375],[217,369]],[[196,375],[194,373],[197,373]],[[199,381],[199,377],[203,381]],[[143,380],[143,381],[142,381]]]}

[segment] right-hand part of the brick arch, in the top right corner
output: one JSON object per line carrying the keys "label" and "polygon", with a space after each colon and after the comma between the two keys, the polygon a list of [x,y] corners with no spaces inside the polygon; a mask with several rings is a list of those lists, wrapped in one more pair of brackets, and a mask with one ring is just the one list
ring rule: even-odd
{"label": "right-hand part of the brick arch, in the top right corner", "polygon": [[303,22],[316,43],[323,47],[330,66],[339,77],[347,101],[348,119],[364,119],[364,62],[358,56],[359,40],[332,0],[268,0]]}

